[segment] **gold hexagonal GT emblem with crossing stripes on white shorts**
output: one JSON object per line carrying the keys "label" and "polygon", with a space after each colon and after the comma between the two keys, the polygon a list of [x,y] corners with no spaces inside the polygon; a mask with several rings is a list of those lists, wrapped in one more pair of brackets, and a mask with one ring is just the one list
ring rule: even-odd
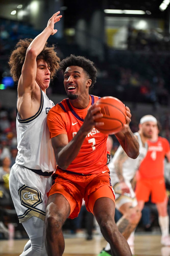
{"label": "gold hexagonal GT emblem with crossing stripes on white shorts", "polygon": [[18,189],[18,194],[21,200],[21,205],[27,208],[24,214],[18,216],[20,222],[25,221],[32,216],[42,220],[45,219],[45,212],[37,208],[37,205],[43,202],[40,191],[23,185]]}

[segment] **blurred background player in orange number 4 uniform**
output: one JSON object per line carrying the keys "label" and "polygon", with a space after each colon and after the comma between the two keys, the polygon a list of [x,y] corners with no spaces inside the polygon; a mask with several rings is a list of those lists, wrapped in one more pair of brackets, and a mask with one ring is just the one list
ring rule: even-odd
{"label": "blurred background player in orange number 4 uniform", "polygon": [[[145,122],[147,116],[141,118],[141,125],[149,126],[149,122]],[[136,198],[138,207],[143,209],[145,202],[149,200],[156,204],[158,210],[159,225],[161,228],[161,243],[170,246],[169,236],[169,216],[167,212],[168,197],[166,194],[164,180],[164,158],[167,157],[170,162],[170,145],[167,139],[159,136],[158,125],[155,124],[151,139],[148,140],[148,152],[139,167],[139,178],[136,183]]]}

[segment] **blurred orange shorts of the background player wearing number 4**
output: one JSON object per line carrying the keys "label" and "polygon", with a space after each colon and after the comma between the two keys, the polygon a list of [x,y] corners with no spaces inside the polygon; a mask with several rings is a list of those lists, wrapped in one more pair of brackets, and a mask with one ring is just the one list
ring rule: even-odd
{"label": "blurred orange shorts of the background player wearing number 4", "polygon": [[135,194],[138,201],[161,203],[167,197],[164,177],[154,179],[140,178],[136,183]]}

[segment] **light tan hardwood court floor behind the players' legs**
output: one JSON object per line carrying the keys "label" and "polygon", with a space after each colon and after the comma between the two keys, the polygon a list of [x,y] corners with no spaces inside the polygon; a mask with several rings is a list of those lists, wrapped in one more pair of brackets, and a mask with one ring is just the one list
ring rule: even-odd
{"label": "light tan hardwood court floor behind the players' legs", "polygon": [[[135,235],[134,253],[137,256],[170,256],[170,247],[162,247],[160,234],[141,233]],[[1,256],[19,256],[27,239],[0,240]],[[65,237],[65,251],[63,256],[97,256],[106,245],[100,235],[94,235],[92,240],[85,237],[71,235]],[[125,255],[126,256],[126,255]]]}

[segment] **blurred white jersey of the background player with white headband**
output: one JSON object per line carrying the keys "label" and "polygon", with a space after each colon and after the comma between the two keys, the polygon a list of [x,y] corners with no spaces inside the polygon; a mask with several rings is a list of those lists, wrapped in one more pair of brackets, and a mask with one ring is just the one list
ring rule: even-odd
{"label": "blurred white jersey of the background player with white headband", "polygon": [[[128,180],[128,181],[132,180],[133,177],[135,176],[136,170],[138,169],[141,160],[146,156],[146,153],[148,150],[148,144],[145,143],[145,146],[143,146],[139,133],[136,132],[136,133],[134,133],[134,135],[137,136],[137,139],[139,142],[139,155],[136,159],[132,159],[132,158],[128,157],[126,159],[126,161],[123,163],[123,167],[122,167],[122,175],[124,177],[124,180]],[[108,165],[108,167],[110,169],[112,185],[115,182],[119,182],[119,179],[118,179],[116,171],[115,171],[114,163],[115,163],[115,160],[117,160],[117,158],[119,157],[121,151],[122,151],[122,147],[120,145]]]}

